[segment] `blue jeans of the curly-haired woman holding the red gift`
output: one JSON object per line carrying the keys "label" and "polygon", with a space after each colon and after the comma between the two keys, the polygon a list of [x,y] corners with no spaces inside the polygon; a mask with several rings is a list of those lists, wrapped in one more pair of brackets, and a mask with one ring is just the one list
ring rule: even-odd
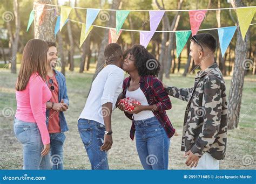
{"label": "blue jeans of the curly-haired woman holding the red gift", "polygon": [[156,117],[134,121],[136,148],[144,169],[168,169],[170,138]]}

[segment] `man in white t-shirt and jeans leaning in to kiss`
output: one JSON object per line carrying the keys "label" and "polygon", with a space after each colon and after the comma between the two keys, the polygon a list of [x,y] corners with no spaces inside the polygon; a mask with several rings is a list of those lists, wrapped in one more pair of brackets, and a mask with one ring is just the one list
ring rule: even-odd
{"label": "man in white t-shirt and jeans leaning in to kiss", "polygon": [[109,44],[104,51],[106,67],[92,82],[85,107],[78,118],[78,131],[92,169],[109,169],[107,151],[112,146],[111,114],[123,91],[122,48]]}

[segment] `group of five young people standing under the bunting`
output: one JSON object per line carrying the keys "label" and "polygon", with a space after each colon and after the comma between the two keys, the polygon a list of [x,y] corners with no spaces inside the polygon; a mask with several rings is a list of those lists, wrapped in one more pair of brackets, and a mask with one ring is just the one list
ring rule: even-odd
{"label": "group of five young people standing under the bunting", "polygon": [[[93,80],[78,117],[79,135],[92,169],[109,169],[114,109],[124,111],[132,121],[130,138],[136,140],[143,168],[168,169],[169,147],[176,132],[166,114],[172,108],[169,96],[188,102],[181,140],[185,165],[219,169],[226,153],[227,101],[223,75],[214,61],[217,43],[208,33],[190,41],[190,55],[201,68],[191,88],[161,82],[159,61],[142,45],[125,51],[116,43],[106,46],[106,66]],[[65,76],[55,69],[57,59],[56,44],[40,39],[29,40],[23,51],[14,120],[15,136],[23,145],[23,169],[64,169],[64,132],[69,130],[64,112],[69,109],[69,97]],[[124,79],[125,72],[129,76]],[[133,110],[120,103],[128,97],[140,102],[132,104]]]}

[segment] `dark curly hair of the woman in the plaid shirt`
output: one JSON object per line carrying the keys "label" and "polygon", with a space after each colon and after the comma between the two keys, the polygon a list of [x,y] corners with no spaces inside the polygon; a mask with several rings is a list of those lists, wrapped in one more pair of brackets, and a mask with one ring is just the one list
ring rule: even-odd
{"label": "dark curly hair of the woman in the plaid shirt", "polygon": [[123,54],[124,58],[126,58],[128,54],[133,56],[134,65],[138,69],[140,76],[158,76],[160,63],[144,46],[139,44],[133,45],[131,48],[126,49]]}

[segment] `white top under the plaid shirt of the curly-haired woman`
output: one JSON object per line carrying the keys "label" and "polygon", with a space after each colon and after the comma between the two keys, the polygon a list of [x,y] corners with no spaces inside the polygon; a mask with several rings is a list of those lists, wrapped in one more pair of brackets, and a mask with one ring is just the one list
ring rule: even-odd
{"label": "white top under the plaid shirt of the curly-haired woman", "polygon": [[[149,105],[149,103],[147,103],[146,96],[144,95],[142,89],[140,89],[140,88],[138,88],[134,91],[129,91],[127,89],[125,97],[133,98],[134,100],[139,101],[142,105]],[[133,114],[134,120],[149,119],[151,117],[154,117],[154,114],[151,110],[143,110],[143,111],[139,112],[138,114]]]}

